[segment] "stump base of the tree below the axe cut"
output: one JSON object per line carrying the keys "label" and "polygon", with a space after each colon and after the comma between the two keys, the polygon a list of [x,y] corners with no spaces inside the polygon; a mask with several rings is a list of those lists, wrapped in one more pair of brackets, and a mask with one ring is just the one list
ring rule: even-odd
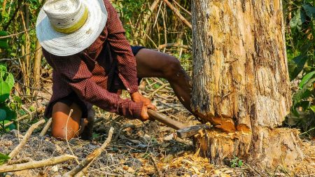
{"label": "stump base of the tree below the axe cut", "polygon": [[297,129],[258,128],[253,132],[224,133],[211,129],[196,136],[194,144],[200,156],[208,157],[214,164],[226,164],[239,157],[262,168],[274,168],[278,165],[290,167],[296,160],[304,159]]}

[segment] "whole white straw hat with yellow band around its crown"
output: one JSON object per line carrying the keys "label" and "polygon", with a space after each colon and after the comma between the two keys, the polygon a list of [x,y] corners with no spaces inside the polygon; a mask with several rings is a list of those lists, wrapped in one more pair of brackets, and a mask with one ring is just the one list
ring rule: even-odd
{"label": "whole white straw hat with yellow band around its crown", "polygon": [[37,17],[36,36],[51,54],[74,55],[97,39],[106,20],[103,0],[48,0]]}

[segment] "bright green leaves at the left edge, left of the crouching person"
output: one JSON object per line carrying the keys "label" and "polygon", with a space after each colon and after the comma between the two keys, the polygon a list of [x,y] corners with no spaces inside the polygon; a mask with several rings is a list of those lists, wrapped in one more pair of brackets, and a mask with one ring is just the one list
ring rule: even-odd
{"label": "bright green leaves at the left edge, left of the crouching person", "polygon": [[[22,105],[20,97],[10,99],[10,91],[14,85],[12,73],[8,73],[6,66],[0,64],[0,122],[2,132],[5,131],[6,122],[15,120],[18,111]],[[9,129],[15,128],[15,125],[10,125]]]}

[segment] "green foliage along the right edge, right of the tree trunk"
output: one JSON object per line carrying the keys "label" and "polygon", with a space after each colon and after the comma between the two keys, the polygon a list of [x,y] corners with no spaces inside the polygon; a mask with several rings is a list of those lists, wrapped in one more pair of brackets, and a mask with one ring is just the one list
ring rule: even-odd
{"label": "green foliage along the right edge, right of the tree trunk", "polygon": [[[315,136],[315,1],[285,1],[286,45],[290,80],[300,80],[286,124]],[[313,130],[311,130],[313,129]]]}

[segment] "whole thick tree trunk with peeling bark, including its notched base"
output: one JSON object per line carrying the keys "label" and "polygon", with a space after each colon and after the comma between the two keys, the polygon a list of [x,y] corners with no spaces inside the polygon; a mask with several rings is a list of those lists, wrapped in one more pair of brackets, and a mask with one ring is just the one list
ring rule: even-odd
{"label": "whole thick tree trunk with peeling bark, including its notched base", "polygon": [[265,166],[302,158],[297,132],[275,129],[290,108],[281,1],[192,3],[192,107],[219,128],[197,138],[200,155]]}

